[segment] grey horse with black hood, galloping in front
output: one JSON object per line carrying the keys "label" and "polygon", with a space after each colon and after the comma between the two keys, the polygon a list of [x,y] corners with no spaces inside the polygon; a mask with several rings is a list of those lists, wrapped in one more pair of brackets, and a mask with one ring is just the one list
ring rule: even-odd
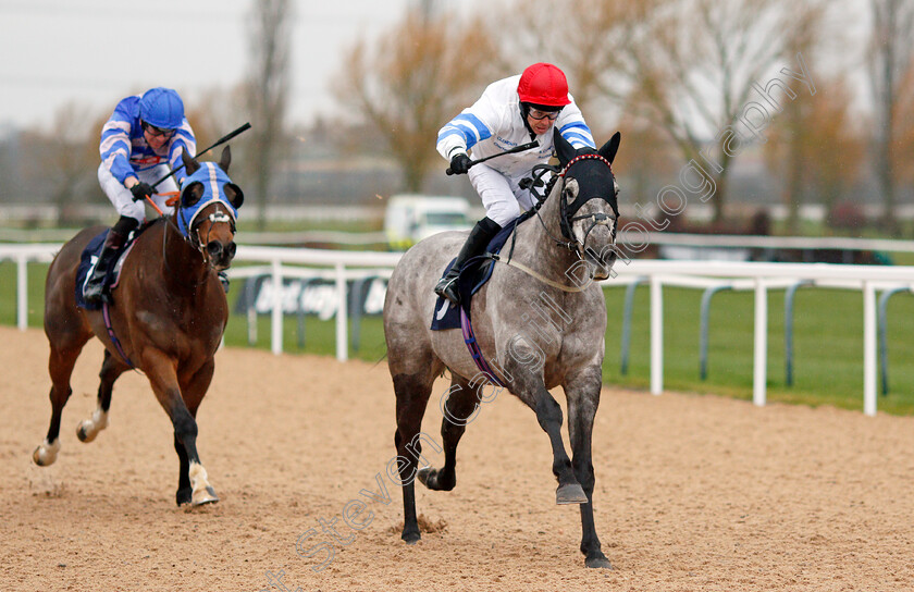
{"label": "grey horse with black hood, galloping in front", "polygon": [[[555,134],[560,172],[555,171],[559,174],[544,190],[539,220],[517,225],[510,261],[503,264],[507,257],[502,256],[493,263],[491,279],[470,304],[477,345],[498,370],[492,370],[494,380],[474,363],[460,330],[429,329],[436,307],[432,288],[466,233],[431,236],[397,263],[384,303],[384,334],[396,393],[394,443],[403,484],[402,539],[407,543],[421,536],[415,479],[431,490],[454,489],[457,444],[479,404],[492,398],[484,387],[494,387],[497,380],[534,410],[548,434],[556,503],[580,504],[585,565],[610,567],[601,551],[592,505],[591,436],[606,331],[603,291],[593,280],[608,278],[617,256],[618,185],[610,164],[619,141],[617,133],[598,151],[576,151]],[[420,468],[421,440],[430,440],[420,432],[422,417],[435,378],[445,368],[452,385],[441,399],[444,466]],[[548,392],[559,385],[568,405],[573,460],[561,442],[561,407]]]}

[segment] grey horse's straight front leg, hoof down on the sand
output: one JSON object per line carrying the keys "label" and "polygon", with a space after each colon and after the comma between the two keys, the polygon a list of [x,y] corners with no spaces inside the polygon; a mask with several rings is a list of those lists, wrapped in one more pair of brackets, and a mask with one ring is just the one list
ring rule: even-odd
{"label": "grey horse's straight front leg, hoof down on the sand", "polygon": [[581,553],[586,557],[588,567],[612,568],[609,560],[601,551],[593,521],[594,476],[591,449],[593,421],[596,417],[596,408],[600,406],[602,383],[601,368],[596,366],[570,375],[563,387],[568,398],[568,435],[571,441],[575,474],[588,497],[588,502],[581,504]]}

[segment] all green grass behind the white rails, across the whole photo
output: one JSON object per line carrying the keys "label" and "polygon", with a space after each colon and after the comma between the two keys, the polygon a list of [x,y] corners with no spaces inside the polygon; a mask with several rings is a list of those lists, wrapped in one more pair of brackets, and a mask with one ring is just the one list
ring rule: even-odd
{"label": "all green grass behind the white rails, across the whole photo", "polygon": [[[47,266],[28,266],[29,326],[40,326],[41,298]],[[234,310],[242,282],[230,293]],[[604,381],[634,388],[650,385],[650,306],[646,286],[635,292],[628,373],[620,372],[623,287],[605,291],[608,329]],[[770,402],[863,408],[863,296],[855,291],[801,288],[794,301],[793,375],[785,377],[783,291],[769,291],[767,397]],[[0,323],[15,324],[15,264],[0,263]],[[753,294],[722,292],[714,296],[711,313],[708,377],[700,379],[699,325],[702,294],[696,289],[664,288],[664,387],[671,391],[712,393],[752,398]],[[880,411],[914,415],[914,297],[897,295],[889,304],[888,344],[890,393],[879,396]],[[353,322],[350,320],[350,330]],[[307,317],[304,345],[298,320],[286,317],[283,350],[333,356],[335,321]],[[351,334],[351,333],[350,333]],[[257,320],[254,347],[270,349],[270,316]],[[360,347],[349,345],[349,356],[375,362],[384,356],[384,334],[379,317],[362,319]],[[230,346],[248,346],[247,318],[232,314],[225,333]]]}

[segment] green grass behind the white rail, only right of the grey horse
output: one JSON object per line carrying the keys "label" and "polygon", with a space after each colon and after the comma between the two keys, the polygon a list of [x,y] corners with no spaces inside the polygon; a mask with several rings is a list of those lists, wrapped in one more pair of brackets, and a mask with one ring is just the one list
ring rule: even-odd
{"label": "green grass behind the white rail, only right of the grey horse", "polygon": [[[709,318],[707,380],[700,378],[701,292],[664,289],[664,387],[752,398],[753,294],[722,292],[714,296]],[[619,350],[625,289],[606,291],[604,380],[646,388],[650,385],[647,287],[639,287],[632,314],[627,375],[620,374]],[[768,293],[767,398],[804,405],[863,407],[863,296],[860,292],[801,288],[794,300],[793,385],[785,370],[783,291]],[[898,295],[889,303],[888,397],[880,410],[914,412],[914,298]]]}

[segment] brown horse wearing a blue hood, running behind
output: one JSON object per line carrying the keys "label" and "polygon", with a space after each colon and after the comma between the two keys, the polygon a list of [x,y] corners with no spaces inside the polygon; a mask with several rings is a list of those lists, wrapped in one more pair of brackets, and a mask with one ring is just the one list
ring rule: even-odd
{"label": "brown horse wearing a blue hood, running behind", "polygon": [[[218,502],[197,454],[197,408],[212,380],[213,355],[228,320],[217,275],[235,256],[235,219],[244,201],[227,177],[232,152],[219,164],[182,155],[188,174],[174,212],[149,223],[125,257],[113,304],[103,310],[76,306],[76,272],[86,245],[104,229],[86,229],[54,257],[45,285],[45,333],[50,342],[51,423],[34,461],[48,466],[60,451],[60,420],[72,394],[70,378],[83,346],[95,335],[104,344],[98,408],[76,434],[91,442],[108,425],[114,381],[141,370],[174,427],[180,459],[176,502]],[[112,338],[113,336],[113,338]]]}

